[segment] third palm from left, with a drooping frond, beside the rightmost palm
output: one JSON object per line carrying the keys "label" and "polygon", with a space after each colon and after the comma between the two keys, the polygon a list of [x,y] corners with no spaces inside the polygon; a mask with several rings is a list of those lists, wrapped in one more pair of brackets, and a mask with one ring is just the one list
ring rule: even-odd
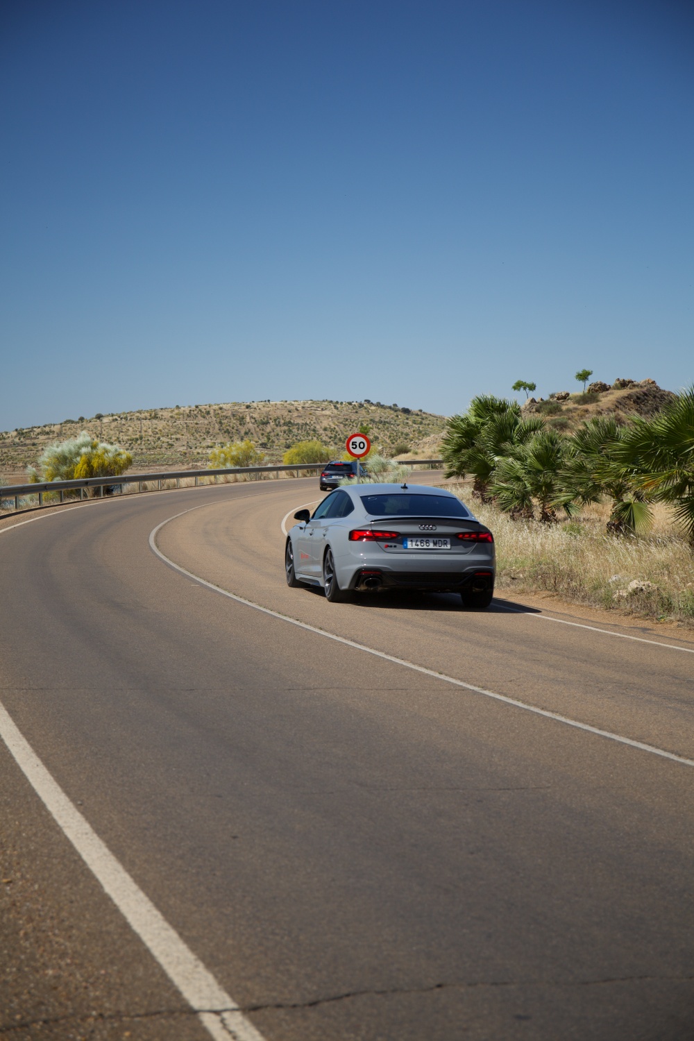
{"label": "third palm from left, with a drooping frond, beside the rightmost palm", "polygon": [[598,415],[576,430],[564,479],[582,503],[612,500],[608,533],[633,534],[652,523],[648,499],[637,474],[619,457],[626,430],[613,415]]}

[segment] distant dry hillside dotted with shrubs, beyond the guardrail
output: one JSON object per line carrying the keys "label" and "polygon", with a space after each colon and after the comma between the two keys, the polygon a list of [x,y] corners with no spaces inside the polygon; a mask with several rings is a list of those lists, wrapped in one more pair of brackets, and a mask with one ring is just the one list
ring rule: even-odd
{"label": "distant dry hillside dotted with shrubs, beyond the guardrail", "polygon": [[345,437],[362,423],[370,426],[377,449],[392,455],[400,446],[414,447],[421,438],[438,436],[445,417],[370,401],[231,402],[97,413],[0,433],[0,475],[21,479],[47,445],[82,430],[118,442],[132,453],[134,469],[147,471],[201,466],[214,446],[247,437],[262,449],[268,463],[281,462],[294,441],[312,438],[341,455]]}

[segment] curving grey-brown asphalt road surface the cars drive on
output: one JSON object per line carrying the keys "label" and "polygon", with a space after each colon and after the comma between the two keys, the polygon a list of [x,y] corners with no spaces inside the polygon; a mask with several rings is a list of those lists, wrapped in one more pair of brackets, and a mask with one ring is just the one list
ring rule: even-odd
{"label": "curving grey-brown asphalt road surface the cars drive on", "polygon": [[[265,1041],[694,1037],[694,767],[449,682],[694,759],[694,641],[289,590],[280,524],[317,496],[1,532],[33,753]],[[162,562],[171,517],[161,554],[287,617]],[[1,742],[0,786],[0,1036],[209,1039]]]}

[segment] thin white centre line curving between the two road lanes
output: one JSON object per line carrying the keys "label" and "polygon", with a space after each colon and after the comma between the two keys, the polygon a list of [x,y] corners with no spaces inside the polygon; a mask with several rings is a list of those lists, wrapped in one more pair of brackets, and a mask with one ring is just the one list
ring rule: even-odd
{"label": "thin white centre line curving between the two road lanes", "polygon": [[[200,507],[194,507],[194,509],[200,509]],[[646,744],[644,741],[635,741],[631,737],[623,737],[621,734],[613,734],[609,730],[600,730],[598,727],[591,727],[587,722],[579,722],[577,719],[570,719],[568,716],[560,715],[558,712],[551,712],[549,709],[541,709],[536,705],[528,705],[526,702],[519,702],[515,697],[508,697],[506,694],[497,694],[493,690],[486,690],[484,687],[475,687],[471,683],[465,683],[463,680],[458,680],[453,676],[446,676],[444,672],[435,672],[432,668],[426,668],[423,665],[416,665],[412,661],[407,661],[405,658],[396,658],[394,655],[386,654],[384,651],[377,651],[375,648],[366,646],[365,643],[357,643],[356,640],[348,639],[345,636],[337,636],[335,633],[329,633],[325,629],[318,629],[316,626],[311,626],[307,621],[300,621],[298,618],[292,618],[288,614],[281,614],[279,611],[274,611],[269,607],[263,607],[261,604],[256,604],[252,600],[247,600],[245,596],[239,596],[234,592],[229,592],[228,589],[222,589],[220,586],[214,585],[212,582],[208,582],[206,579],[201,579],[199,575],[194,575],[192,572],[186,570],[185,567],[181,567],[175,561],[166,557],[161,550],[156,544],[156,536],[158,532],[168,525],[171,520],[175,520],[177,517],[183,516],[184,513],[191,512],[190,510],[182,510],[180,513],[174,514],[174,516],[169,517],[166,520],[162,520],[158,524],[156,528],[153,528],[150,532],[150,549],[160,560],[162,560],[169,567],[173,567],[174,570],[179,572],[181,575],[185,575],[186,578],[192,579],[194,582],[200,583],[200,585],[206,586],[211,589],[212,592],[220,593],[222,596],[227,596],[229,600],[235,601],[237,604],[243,604],[246,607],[252,607],[256,611],[261,611],[263,614],[267,614],[273,618],[279,618],[281,621],[288,621],[291,626],[297,626],[299,629],[304,629],[309,633],[315,633],[317,636],[323,636],[328,640],[335,640],[337,643],[343,643],[345,646],[354,648],[357,651],[364,651],[366,654],[371,654],[376,658],[382,658],[384,661],[393,662],[395,665],[402,665],[404,668],[411,668],[415,672],[420,672],[422,676],[430,676],[434,680],[441,680],[443,683],[451,683],[453,686],[462,687],[465,690],[471,690],[475,694],[484,694],[485,697],[492,697],[494,701],[503,702],[505,705],[513,705],[515,708],[523,709],[525,712],[534,712],[536,715],[544,716],[547,719],[554,719],[556,722],[563,722],[567,727],[575,727],[577,730],[587,731],[589,734],[597,734],[598,737],[607,737],[611,741],[617,741],[620,744],[627,744],[633,748],[639,748],[641,752],[649,752],[654,756],[661,756],[663,759],[670,759],[672,762],[680,763],[684,766],[694,766],[694,759],[688,759],[686,756],[678,756],[674,752],[666,752],[664,748],[658,748],[652,744]],[[518,612],[521,614],[522,612]],[[649,643],[650,640],[645,640],[644,642]],[[665,644],[668,646],[668,644]]]}

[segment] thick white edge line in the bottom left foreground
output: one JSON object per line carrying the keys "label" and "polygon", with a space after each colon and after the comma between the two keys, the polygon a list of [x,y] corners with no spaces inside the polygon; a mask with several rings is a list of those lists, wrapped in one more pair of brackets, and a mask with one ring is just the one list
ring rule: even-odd
{"label": "thick white edge line in the bottom left foreground", "polygon": [[263,1041],[71,803],[2,705],[0,736],[58,827],[215,1041]]}

